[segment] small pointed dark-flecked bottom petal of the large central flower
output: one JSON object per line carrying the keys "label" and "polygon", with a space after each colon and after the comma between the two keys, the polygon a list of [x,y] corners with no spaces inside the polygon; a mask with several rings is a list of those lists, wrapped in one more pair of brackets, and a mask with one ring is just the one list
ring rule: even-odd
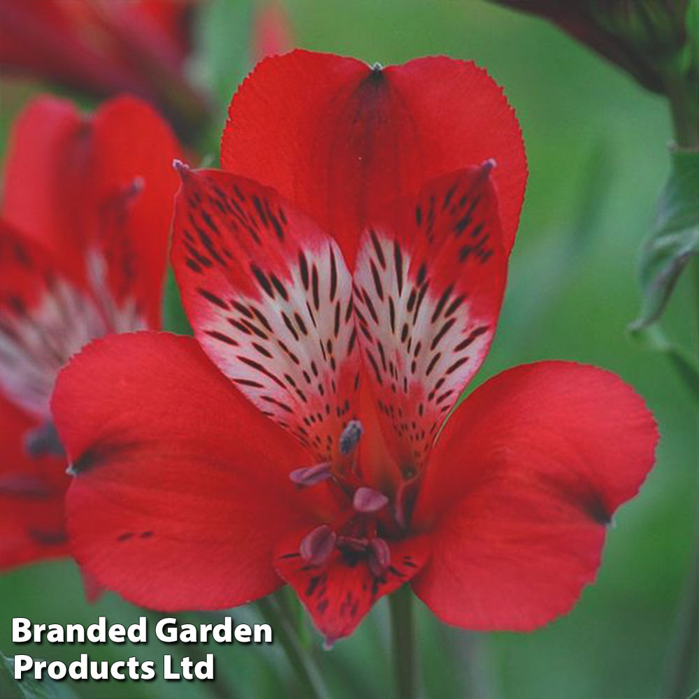
{"label": "small pointed dark-flecked bottom petal of the large central flower", "polygon": [[348,557],[336,549],[324,565],[311,565],[299,553],[307,533],[292,532],[279,542],[275,567],[294,588],[329,646],[351,634],[376,600],[412,579],[429,556],[428,538],[416,536],[389,542],[390,565],[379,577],[373,575],[363,553]]}

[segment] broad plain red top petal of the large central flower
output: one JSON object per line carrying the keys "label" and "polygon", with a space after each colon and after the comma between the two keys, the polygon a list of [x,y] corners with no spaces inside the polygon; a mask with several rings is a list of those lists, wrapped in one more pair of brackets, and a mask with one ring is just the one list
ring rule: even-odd
{"label": "broad plain red top petal of the large central flower", "polygon": [[308,212],[352,268],[359,231],[387,203],[442,173],[498,161],[509,250],[526,161],[502,90],[473,63],[424,58],[385,70],[296,50],[266,59],[233,97],[222,166]]}

